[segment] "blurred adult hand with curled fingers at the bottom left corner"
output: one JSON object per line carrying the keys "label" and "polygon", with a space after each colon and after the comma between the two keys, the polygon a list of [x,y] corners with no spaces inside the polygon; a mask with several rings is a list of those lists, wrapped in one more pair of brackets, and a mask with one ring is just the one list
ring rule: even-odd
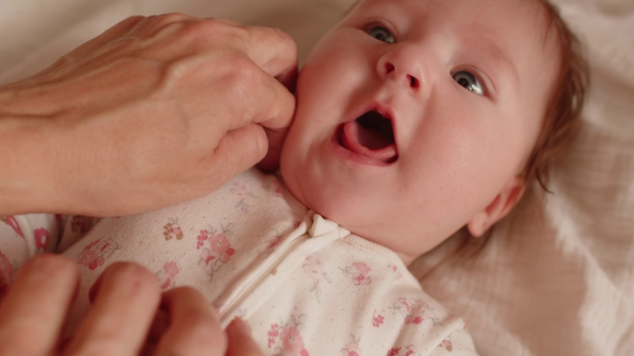
{"label": "blurred adult hand with curled fingers at the bottom left corner", "polygon": [[[241,321],[233,321],[224,334],[200,293],[176,288],[161,295],[153,274],[129,263],[103,272],[77,334],[60,343],[78,280],[77,265],[60,255],[27,262],[0,304],[0,354],[261,355]],[[159,308],[167,315],[167,327],[156,327]]]}

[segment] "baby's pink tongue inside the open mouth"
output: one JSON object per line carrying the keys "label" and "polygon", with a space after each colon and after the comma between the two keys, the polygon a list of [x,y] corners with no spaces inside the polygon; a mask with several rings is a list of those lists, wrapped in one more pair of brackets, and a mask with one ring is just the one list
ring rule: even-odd
{"label": "baby's pink tongue inside the open mouth", "polygon": [[357,121],[344,124],[342,146],[359,155],[391,163],[396,160],[396,145],[382,132],[363,127]]}

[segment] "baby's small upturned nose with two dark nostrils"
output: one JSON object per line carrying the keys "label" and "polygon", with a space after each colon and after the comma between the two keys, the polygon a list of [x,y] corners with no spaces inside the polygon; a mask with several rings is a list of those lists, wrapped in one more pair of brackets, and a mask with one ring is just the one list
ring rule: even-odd
{"label": "baby's small upturned nose with two dark nostrils", "polygon": [[413,91],[420,90],[423,69],[420,61],[421,53],[411,45],[394,45],[378,61],[377,72],[382,79],[392,79],[408,86]]}

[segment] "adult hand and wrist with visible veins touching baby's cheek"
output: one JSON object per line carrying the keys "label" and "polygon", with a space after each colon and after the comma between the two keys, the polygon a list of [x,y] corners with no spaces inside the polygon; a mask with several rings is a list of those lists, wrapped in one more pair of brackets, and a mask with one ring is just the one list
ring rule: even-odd
{"label": "adult hand and wrist with visible veins touching baby's cheek", "polygon": [[280,30],[128,18],[0,87],[0,215],[126,215],[209,193],[264,158],[264,128],[290,124],[296,72]]}

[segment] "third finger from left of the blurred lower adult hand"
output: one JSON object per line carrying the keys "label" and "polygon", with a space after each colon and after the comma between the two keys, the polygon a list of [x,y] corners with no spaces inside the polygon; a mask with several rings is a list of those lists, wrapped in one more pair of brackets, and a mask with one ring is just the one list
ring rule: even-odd
{"label": "third finger from left of the blurred lower adult hand", "polygon": [[171,289],[163,295],[162,308],[167,311],[169,326],[155,355],[224,355],[226,339],[216,312],[198,291]]}

